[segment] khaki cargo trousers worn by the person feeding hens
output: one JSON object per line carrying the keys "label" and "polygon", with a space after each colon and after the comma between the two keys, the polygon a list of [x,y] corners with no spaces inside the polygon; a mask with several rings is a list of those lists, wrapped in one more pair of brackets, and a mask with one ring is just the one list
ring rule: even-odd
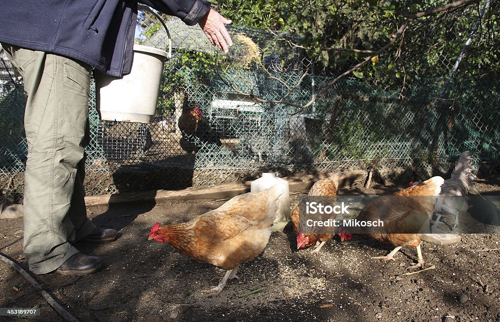
{"label": "khaki cargo trousers worn by the person feeding hens", "polygon": [[83,200],[91,68],[43,51],[2,47],[28,94],[24,254],[31,272],[45,274],[78,253],[71,243],[95,228]]}

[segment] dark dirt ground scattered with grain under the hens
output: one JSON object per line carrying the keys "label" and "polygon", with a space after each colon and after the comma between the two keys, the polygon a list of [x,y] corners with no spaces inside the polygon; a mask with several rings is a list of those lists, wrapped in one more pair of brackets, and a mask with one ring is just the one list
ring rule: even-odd
{"label": "dark dirt ground scattered with grain under the hens", "polygon": [[[483,195],[500,195],[500,180],[479,180]],[[388,194],[398,187],[344,187],[342,194]],[[292,206],[298,195],[292,196]],[[416,252],[403,248],[393,262],[373,260],[391,245],[361,239],[342,245],[335,237],[319,253],[296,251],[290,225],[273,232],[264,252],[240,266],[216,297],[203,295],[224,271],[198,263],[171,246],[148,241],[151,226],[176,223],[214,209],[223,201],[128,203],[88,209],[104,228],[119,230],[109,244],[78,243],[100,256],[102,271],[84,277],[35,276],[80,321],[498,321],[500,320],[500,235],[462,235],[458,244],[423,243],[435,265],[414,275],[406,267]],[[489,251],[485,251],[489,250]],[[0,220],[0,252],[21,263],[22,218]],[[249,291],[263,291],[240,297]],[[461,297],[461,303],[459,301]],[[465,298],[466,297],[466,298]],[[31,321],[61,321],[40,294],[0,262],[0,307],[39,307]],[[18,318],[1,317],[3,321]]]}

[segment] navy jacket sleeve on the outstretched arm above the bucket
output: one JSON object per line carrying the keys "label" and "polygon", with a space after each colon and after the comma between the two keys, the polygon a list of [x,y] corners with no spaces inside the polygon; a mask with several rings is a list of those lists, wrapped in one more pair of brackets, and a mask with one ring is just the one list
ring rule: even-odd
{"label": "navy jacket sleeve on the outstretched arm above the bucket", "polygon": [[187,25],[198,23],[210,10],[210,2],[204,0],[139,0],[163,13],[179,17]]}

